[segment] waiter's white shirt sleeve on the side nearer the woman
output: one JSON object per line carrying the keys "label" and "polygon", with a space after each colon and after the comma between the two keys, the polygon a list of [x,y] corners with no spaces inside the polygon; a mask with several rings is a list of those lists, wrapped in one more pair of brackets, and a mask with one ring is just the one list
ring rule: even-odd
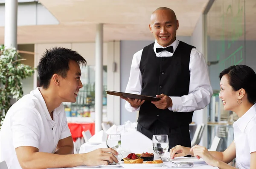
{"label": "waiter's white shirt sleeve on the side nearer the woman", "polygon": [[191,50],[189,94],[181,97],[170,97],[172,107],[169,110],[191,112],[206,107],[212,96],[212,87],[209,80],[207,64],[203,54],[195,48]]}

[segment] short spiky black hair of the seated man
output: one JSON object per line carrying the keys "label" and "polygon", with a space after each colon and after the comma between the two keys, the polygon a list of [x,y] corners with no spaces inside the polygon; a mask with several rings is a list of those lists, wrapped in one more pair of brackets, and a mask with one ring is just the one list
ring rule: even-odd
{"label": "short spiky black hair of the seated man", "polygon": [[76,51],[67,48],[54,47],[47,49],[38,64],[38,75],[40,86],[47,89],[52,75],[58,74],[63,78],[67,77],[69,62],[73,60],[79,65],[86,65],[86,60]]}

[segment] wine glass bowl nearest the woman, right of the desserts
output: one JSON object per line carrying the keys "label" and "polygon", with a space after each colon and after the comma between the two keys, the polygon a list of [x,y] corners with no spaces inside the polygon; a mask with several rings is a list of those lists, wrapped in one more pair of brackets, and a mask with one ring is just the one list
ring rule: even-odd
{"label": "wine glass bowl nearest the woman, right of the desserts", "polygon": [[168,135],[153,135],[152,143],[154,152],[159,155],[159,159],[162,160],[164,153],[169,148]]}

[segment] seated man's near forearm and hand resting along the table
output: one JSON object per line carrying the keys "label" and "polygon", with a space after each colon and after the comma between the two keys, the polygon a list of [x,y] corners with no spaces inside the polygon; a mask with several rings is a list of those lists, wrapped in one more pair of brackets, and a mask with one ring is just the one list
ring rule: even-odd
{"label": "seated man's near forearm and hand resting along the table", "polygon": [[[23,169],[47,169],[64,168],[74,166],[108,165],[118,160],[113,155],[118,153],[111,149],[96,149],[84,154],[58,155],[47,152],[38,152],[38,148],[32,146],[20,146],[15,149],[20,166]],[[111,153],[108,153],[111,152]]]}

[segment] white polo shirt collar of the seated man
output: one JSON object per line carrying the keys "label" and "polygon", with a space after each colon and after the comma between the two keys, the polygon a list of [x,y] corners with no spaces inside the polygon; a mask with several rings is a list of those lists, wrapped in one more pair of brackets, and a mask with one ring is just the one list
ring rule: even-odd
{"label": "white polo shirt collar of the seated man", "polygon": [[[50,115],[50,113],[49,113],[49,111],[47,109],[46,103],[44,101],[44,98],[43,98],[43,96],[42,96],[42,94],[40,92],[40,87],[37,87],[35,90],[31,91],[30,94],[34,95],[38,99],[38,101],[40,102],[41,106],[44,109],[44,113],[46,115],[47,120],[52,120],[51,115]],[[55,115],[58,116],[59,113],[61,113],[61,110],[62,110],[61,109],[61,105],[53,110],[53,115],[54,116]]]}

